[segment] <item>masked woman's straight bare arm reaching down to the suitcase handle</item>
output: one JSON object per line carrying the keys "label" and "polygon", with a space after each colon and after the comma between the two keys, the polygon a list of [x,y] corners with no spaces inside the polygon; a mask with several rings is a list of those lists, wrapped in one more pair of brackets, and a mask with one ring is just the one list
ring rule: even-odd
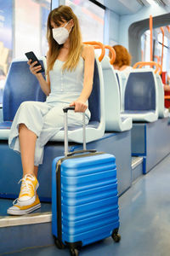
{"label": "masked woman's straight bare arm reaching down to the suitcase handle", "polygon": [[75,112],[84,112],[88,108],[85,103],[92,92],[94,81],[94,47],[91,45],[84,45],[82,58],[84,59],[84,82],[82,93],[77,101],[71,102],[70,105],[75,106]]}

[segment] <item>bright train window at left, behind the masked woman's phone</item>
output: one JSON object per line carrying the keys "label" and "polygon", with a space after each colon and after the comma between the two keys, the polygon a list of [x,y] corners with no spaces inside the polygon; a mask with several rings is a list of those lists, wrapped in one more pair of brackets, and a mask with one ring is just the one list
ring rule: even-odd
{"label": "bright train window at left, behind the masked woman's phone", "polygon": [[11,60],[30,50],[46,54],[50,6],[51,0],[0,0],[0,103]]}

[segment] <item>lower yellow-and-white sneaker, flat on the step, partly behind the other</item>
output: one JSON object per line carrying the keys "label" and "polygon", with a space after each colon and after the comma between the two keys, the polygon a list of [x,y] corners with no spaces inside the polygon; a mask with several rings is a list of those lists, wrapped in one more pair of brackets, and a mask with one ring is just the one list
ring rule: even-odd
{"label": "lower yellow-and-white sneaker, flat on the step, partly behind the other", "polygon": [[[16,204],[15,204],[16,201]],[[33,212],[41,207],[41,203],[39,201],[38,195],[36,195],[36,201],[34,201],[29,206],[20,206],[19,199],[15,199],[13,202],[13,207],[9,207],[7,213],[10,215],[24,215],[30,212]]]}

